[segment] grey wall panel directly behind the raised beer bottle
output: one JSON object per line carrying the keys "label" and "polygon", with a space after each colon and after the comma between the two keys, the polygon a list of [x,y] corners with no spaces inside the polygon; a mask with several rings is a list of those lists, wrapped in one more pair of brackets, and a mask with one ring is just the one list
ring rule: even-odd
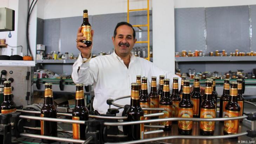
{"label": "grey wall panel directly behind the raised beer bottle", "polygon": [[[92,16],[88,16],[89,22],[92,23]],[[61,39],[61,50],[60,52],[64,54],[65,52],[73,53],[78,56],[80,53],[76,48],[76,35],[78,28],[83,22],[82,16],[75,16],[69,18],[60,19],[60,39]]]}

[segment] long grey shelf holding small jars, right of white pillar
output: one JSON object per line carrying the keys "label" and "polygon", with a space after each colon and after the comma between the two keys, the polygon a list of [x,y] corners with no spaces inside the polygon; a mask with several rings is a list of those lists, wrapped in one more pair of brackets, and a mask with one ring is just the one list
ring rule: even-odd
{"label": "long grey shelf holding small jars, right of white pillar", "polygon": [[256,61],[256,56],[197,56],[197,57],[175,57],[176,62],[196,61]]}

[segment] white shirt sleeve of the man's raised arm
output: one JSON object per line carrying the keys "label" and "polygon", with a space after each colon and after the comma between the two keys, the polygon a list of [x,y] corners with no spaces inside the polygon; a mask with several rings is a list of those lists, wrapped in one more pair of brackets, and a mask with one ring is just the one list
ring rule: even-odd
{"label": "white shirt sleeve of the man's raised arm", "polygon": [[78,60],[73,64],[72,79],[76,84],[92,85],[97,80],[99,68],[95,60],[82,58],[81,54]]}

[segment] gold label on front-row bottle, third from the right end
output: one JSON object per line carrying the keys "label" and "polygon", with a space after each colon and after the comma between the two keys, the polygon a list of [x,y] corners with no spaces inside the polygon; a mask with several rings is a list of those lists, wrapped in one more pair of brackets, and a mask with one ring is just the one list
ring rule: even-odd
{"label": "gold label on front-row bottle, third from the right end", "polygon": [[[181,108],[179,107],[178,117],[192,118],[193,117],[193,108]],[[178,128],[182,130],[191,130],[192,121],[178,121]]]}

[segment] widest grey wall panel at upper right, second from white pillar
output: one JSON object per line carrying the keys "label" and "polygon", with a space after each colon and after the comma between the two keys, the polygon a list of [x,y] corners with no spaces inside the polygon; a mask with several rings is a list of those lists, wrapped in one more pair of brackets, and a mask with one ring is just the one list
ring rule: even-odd
{"label": "widest grey wall panel at upper right, second from white pillar", "polygon": [[207,52],[249,52],[248,6],[206,8]]}

